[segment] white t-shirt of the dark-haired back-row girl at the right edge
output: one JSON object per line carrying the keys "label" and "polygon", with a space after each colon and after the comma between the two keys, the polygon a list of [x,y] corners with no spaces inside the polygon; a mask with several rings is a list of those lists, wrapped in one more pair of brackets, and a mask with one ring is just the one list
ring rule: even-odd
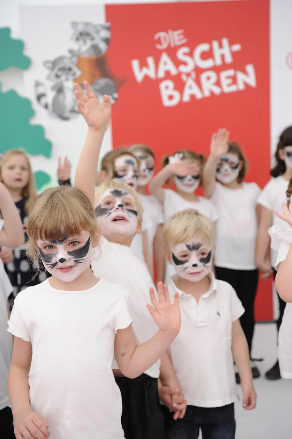
{"label": "white t-shirt of the dark-haired back-row girl at the right edge", "polygon": [[[286,191],[288,189],[289,182],[284,180],[282,176],[272,178],[268,184],[264,187],[257,202],[264,206],[266,209],[270,209],[273,212],[273,224],[278,224],[281,229],[289,230],[290,226],[279,218],[274,211],[278,210],[282,212],[282,204],[286,202]],[[276,263],[277,253],[271,250],[271,266],[274,267]]]}

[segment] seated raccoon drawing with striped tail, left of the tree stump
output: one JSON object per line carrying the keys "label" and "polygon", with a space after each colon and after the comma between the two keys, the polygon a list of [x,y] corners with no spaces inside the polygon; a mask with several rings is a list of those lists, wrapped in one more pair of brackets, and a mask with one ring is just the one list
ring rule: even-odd
{"label": "seated raccoon drawing with striped tail, left of the tree stump", "polygon": [[69,120],[72,113],[77,112],[74,94],[74,79],[81,75],[77,68],[77,57],[59,56],[52,61],[43,62],[49,70],[46,79],[52,83],[47,87],[40,81],[35,81],[35,97],[39,104],[63,120]]}

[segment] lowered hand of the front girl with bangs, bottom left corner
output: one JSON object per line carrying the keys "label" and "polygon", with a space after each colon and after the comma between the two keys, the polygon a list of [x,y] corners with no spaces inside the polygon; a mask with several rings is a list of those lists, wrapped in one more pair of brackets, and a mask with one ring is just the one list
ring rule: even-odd
{"label": "lowered hand of the front girl with bangs, bottom left corner", "polygon": [[38,413],[29,411],[20,420],[15,421],[14,434],[16,439],[49,438],[49,425],[46,418]]}

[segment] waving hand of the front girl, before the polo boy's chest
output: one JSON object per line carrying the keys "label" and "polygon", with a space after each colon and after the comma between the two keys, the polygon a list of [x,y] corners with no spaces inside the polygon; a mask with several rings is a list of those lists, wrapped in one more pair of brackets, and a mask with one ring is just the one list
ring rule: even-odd
{"label": "waving hand of the front girl, before the polo boy's chest", "polygon": [[159,327],[160,331],[169,334],[178,334],[180,329],[180,311],[179,311],[179,295],[175,294],[173,303],[169,298],[167,285],[158,282],[158,300],[155,297],[153,288],[150,288],[149,294],[151,305],[147,305],[149,313]]}

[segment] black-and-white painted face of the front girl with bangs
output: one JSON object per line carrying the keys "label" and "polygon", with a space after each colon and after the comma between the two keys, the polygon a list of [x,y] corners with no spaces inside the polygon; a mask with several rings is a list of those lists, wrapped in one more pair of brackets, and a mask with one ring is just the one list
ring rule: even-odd
{"label": "black-and-white painted face of the front girl with bangs", "polygon": [[44,267],[52,276],[64,282],[74,281],[91,262],[92,243],[89,232],[82,231],[81,237],[74,239],[64,233],[61,240],[37,241]]}

